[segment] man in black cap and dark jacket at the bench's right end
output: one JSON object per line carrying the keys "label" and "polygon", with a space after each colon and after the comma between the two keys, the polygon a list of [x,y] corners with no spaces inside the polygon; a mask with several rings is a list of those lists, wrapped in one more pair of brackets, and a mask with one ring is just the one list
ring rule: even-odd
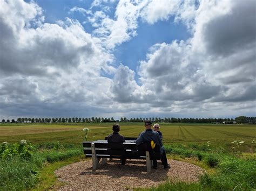
{"label": "man in black cap and dark jacket at the bench's right end", "polygon": [[[164,150],[161,138],[156,131],[153,131],[151,129],[151,126],[152,126],[151,121],[145,121],[146,130],[140,133],[138,139],[136,140],[136,145],[140,145],[146,142],[151,142],[151,140],[153,140],[153,142],[156,143],[156,145],[160,146],[160,157],[164,165],[164,169],[169,169],[171,168],[171,166],[167,162],[167,158],[166,158],[166,154],[165,154],[165,150]],[[154,165],[154,168],[157,168],[156,161],[153,161],[153,165]]]}

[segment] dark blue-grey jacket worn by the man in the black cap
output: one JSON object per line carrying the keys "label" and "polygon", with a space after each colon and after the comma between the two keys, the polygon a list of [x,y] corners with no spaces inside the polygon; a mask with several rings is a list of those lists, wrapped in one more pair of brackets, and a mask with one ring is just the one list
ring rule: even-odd
{"label": "dark blue-grey jacket worn by the man in the black cap", "polygon": [[159,145],[160,147],[163,146],[159,134],[152,129],[146,129],[140,133],[138,139],[136,140],[136,145],[140,145],[145,142],[151,142],[151,140],[153,140],[156,145]]}

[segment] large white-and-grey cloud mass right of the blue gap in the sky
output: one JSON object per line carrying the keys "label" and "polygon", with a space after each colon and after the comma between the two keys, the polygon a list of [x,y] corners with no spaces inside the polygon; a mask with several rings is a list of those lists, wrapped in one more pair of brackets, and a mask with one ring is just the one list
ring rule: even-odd
{"label": "large white-and-grey cloud mass right of the blue gap in the sky", "polygon": [[[254,2],[201,2],[198,7],[194,5],[194,9],[179,4],[177,7],[189,7],[188,13],[183,12],[184,17],[176,8],[167,11],[161,3],[156,6],[153,3],[143,9],[146,22],[153,24],[174,14],[188,25],[193,35],[186,41],[156,44],[150,48],[147,59],[140,61],[138,67],[142,86],[125,90],[131,93],[129,100],[165,108],[166,112],[185,112],[187,109],[181,107],[186,107],[208,114],[224,108],[231,111],[234,107],[227,103],[237,105],[237,112],[245,103],[255,105]],[[147,8],[153,12],[150,17],[146,14]],[[156,16],[159,10],[163,13]],[[139,91],[137,97],[142,99],[133,96],[134,87]],[[145,91],[149,90],[147,95]],[[116,100],[124,97],[116,96]],[[206,107],[211,104],[215,104],[216,110]],[[247,112],[254,111],[247,109]]]}

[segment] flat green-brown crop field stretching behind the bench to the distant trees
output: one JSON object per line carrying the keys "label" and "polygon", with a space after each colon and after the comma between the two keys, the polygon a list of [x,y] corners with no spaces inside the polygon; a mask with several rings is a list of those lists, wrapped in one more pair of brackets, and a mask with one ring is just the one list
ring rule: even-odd
{"label": "flat green-brown crop field stretching behind the bench to the distant trees", "polygon": [[[112,132],[112,123],[100,124],[10,124],[0,125],[0,142],[18,142],[26,139],[31,143],[60,141],[81,143],[84,138],[83,128],[91,129],[88,140],[104,139]],[[120,124],[120,134],[125,137],[138,137],[144,131],[143,123]],[[164,143],[206,143],[230,144],[234,140],[251,143],[256,139],[254,125],[225,124],[160,124]]]}

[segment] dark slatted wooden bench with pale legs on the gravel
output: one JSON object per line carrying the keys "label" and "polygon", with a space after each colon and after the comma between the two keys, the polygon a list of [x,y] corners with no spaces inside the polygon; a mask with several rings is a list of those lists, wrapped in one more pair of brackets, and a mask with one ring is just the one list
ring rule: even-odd
{"label": "dark slatted wooden bench with pale legs on the gravel", "polygon": [[100,159],[102,164],[106,164],[107,158],[125,158],[146,160],[147,172],[150,172],[152,160],[160,160],[160,148],[156,146],[154,152],[145,151],[142,146],[135,144],[136,139],[125,137],[125,143],[107,143],[107,140],[83,142],[84,154],[86,158],[92,158],[93,169],[98,168]]}

